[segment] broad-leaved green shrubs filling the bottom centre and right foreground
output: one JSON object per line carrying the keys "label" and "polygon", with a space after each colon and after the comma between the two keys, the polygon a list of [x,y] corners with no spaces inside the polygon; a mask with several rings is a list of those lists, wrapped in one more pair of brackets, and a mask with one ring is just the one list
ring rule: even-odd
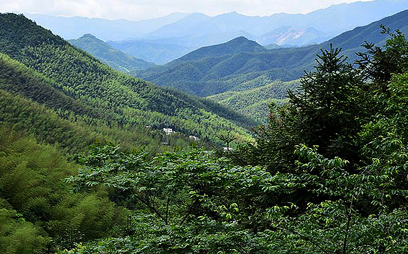
{"label": "broad-leaved green shrubs filling the bottom centre and right foreground", "polygon": [[[148,160],[113,144],[93,147],[86,169],[68,178],[126,192],[133,206],[124,235],[65,253],[405,252],[408,214],[391,160],[349,173],[341,158],[296,147],[293,173],[237,167],[203,151]],[[177,204],[177,205],[176,205]],[[60,252],[64,253],[64,252]]]}

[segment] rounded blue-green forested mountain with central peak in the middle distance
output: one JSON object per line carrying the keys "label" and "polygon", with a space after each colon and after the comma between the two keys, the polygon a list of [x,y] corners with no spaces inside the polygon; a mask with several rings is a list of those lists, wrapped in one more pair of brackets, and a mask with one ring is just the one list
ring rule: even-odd
{"label": "rounded blue-green forested mountain with central peak in the middle distance", "polygon": [[[272,68],[271,62],[266,61],[269,59],[267,53],[268,50],[258,43],[238,37],[220,45],[202,47],[171,63],[140,73],[157,85],[207,96],[233,90],[235,85],[257,77],[250,76],[251,72]],[[242,78],[246,74],[249,76]],[[281,78],[273,75],[273,79]]]}

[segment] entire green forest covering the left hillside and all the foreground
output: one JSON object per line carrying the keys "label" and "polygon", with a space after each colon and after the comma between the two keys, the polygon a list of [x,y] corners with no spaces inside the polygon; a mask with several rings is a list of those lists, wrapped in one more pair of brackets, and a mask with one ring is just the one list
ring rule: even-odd
{"label": "entire green forest covering the left hillside and all the foreground", "polygon": [[[251,140],[232,110],[0,19],[0,253],[408,252],[400,31],[353,65],[323,48]],[[166,119],[179,145],[157,138]]]}

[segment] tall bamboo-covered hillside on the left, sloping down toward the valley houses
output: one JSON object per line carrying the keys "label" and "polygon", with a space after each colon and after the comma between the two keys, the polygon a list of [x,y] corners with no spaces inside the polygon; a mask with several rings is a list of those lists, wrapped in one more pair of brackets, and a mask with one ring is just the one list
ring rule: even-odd
{"label": "tall bamboo-covered hillside on the left, sloping down toward the valley houses", "polygon": [[[84,149],[78,143],[100,138],[159,152],[170,148],[162,145],[167,141],[164,127],[177,132],[170,138],[171,147],[188,147],[188,136],[221,145],[215,134],[230,128],[240,140],[250,138],[246,128],[255,122],[231,109],[112,70],[22,15],[1,14],[0,23],[0,88],[10,93],[2,96],[13,97],[1,108],[2,118],[19,130],[36,133],[38,140],[49,138],[55,129],[61,135],[55,134],[59,138],[54,140],[69,149]],[[27,106],[21,108],[21,103]],[[47,114],[55,115],[53,124],[42,131],[32,128],[41,125],[37,120],[42,116],[31,105],[44,106]],[[21,113],[16,115],[15,108]],[[61,127],[63,122],[70,127]],[[83,134],[72,134],[75,142],[67,140],[66,128]]]}

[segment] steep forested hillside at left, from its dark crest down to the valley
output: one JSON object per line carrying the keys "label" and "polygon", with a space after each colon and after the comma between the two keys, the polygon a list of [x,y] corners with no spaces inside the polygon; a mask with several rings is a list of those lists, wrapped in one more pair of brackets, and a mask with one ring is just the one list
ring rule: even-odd
{"label": "steep forested hillside at left, from its dark crest down to the valley", "polygon": [[[193,135],[207,142],[218,143],[220,141],[215,134],[231,125],[240,139],[249,138],[245,128],[254,125],[254,122],[226,107],[171,89],[162,89],[112,70],[23,15],[0,14],[0,24],[0,51],[12,58],[7,60],[8,56],[3,56],[6,59],[3,63],[12,62],[12,66],[23,70],[23,74],[17,75],[23,76],[21,82],[12,80],[10,85],[1,88],[18,92],[41,104],[45,103],[45,99],[40,100],[44,97],[41,94],[44,89],[55,91],[58,95],[55,100],[61,98],[66,103],[54,102],[52,97],[52,101],[46,100],[48,104],[45,106],[52,108],[59,117],[83,119],[96,129],[111,129],[113,126],[124,130],[145,129],[148,125],[153,131],[150,136],[157,138],[160,136],[155,134],[155,130],[170,127],[187,140],[189,135]],[[9,76],[17,72],[12,66],[8,64],[4,67],[10,70]],[[48,83],[49,88],[32,89],[27,94],[23,88],[26,80],[37,85],[37,80],[42,80]],[[21,87],[16,87],[19,84]],[[70,100],[75,101],[77,109],[66,108],[75,105],[68,103]]]}

